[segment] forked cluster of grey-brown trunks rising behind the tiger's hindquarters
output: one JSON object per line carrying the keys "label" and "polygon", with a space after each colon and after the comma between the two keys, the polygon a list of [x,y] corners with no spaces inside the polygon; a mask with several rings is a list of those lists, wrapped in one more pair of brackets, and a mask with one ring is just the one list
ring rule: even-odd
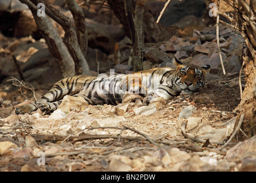
{"label": "forked cluster of grey-brown trunks rising behind the tiger's hindquarters", "polygon": [[[90,69],[85,59],[88,42],[85,18],[77,3],[74,0],[66,0],[76,23],[77,29],[75,29],[70,19],[51,6],[47,0],[21,0],[21,2],[26,3],[32,11],[38,29],[42,33],[50,53],[57,58],[62,75],[64,77],[76,74],[90,75]],[[46,16],[39,17],[37,15],[38,8],[36,5],[38,3],[44,3],[46,14],[62,26],[65,31],[63,41],[49,19]]]}

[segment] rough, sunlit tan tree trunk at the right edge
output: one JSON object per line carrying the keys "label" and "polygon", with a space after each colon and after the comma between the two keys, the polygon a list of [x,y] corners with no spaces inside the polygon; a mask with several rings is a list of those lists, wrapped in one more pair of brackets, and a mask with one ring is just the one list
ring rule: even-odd
{"label": "rough, sunlit tan tree trunk at the right edge", "polygon": [[[251,137],[256,134],[256,25],[253,17],[256,17],[256,1],[244,1],[244,0],[224,0],[227,3],[233,5],[234,17],[228,17],[235,29],[245,39],[247,49],[250,51],[243,57],[245,62],[246,85],[242,93],[240,104],[235,111],[239,112],[237,121],[235,122],[235,128],[238,125],[240,117],[245,114],[241,129],[243,131],[238,133],[240,140],[244,140],[247,137]],[[223,14],[222,14],[223,15]],[[225,15],[225,14],[224,14]]]}

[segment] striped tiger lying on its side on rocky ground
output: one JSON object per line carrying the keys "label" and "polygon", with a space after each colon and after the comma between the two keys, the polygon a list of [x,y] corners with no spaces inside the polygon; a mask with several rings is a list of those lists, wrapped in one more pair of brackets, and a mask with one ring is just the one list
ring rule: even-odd
{"label": "striped tiger lying on its side on rocky ground", "polygon": [[[202,67],[183,64],[175,58],[176,69],[156,67],[132,74],[75,75],[61,79],[37,101],[18,106],[16,114],[32,113],[38,108],[53,112],[64,96],[82,96],[90,105],[117,105],[139,98],[148,104],[152,98],[163,97],[168,101],[180,93],[192,94],[205,84],[210,65]],[[134,96],[134,97],[131,97]]]}

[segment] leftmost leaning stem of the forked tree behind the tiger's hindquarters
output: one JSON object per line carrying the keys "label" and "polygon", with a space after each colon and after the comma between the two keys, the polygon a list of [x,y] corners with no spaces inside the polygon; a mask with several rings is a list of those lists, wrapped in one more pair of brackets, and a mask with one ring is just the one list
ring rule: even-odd
{"label": "leftmost leaning stem of the forked tree behind the tiger's hindquarters", "polygon": [[57,64],[60,67],[63,77],[72,77],[75,75],[74,62],[69,54],[65,44],[62,42],[60,34],[54,29],[49,18],[46,16],[38,17],[38,8],[29,0],[20,0],[25,3],[31,10],[37,27],[48,45],[50,53],[56,58]]}

